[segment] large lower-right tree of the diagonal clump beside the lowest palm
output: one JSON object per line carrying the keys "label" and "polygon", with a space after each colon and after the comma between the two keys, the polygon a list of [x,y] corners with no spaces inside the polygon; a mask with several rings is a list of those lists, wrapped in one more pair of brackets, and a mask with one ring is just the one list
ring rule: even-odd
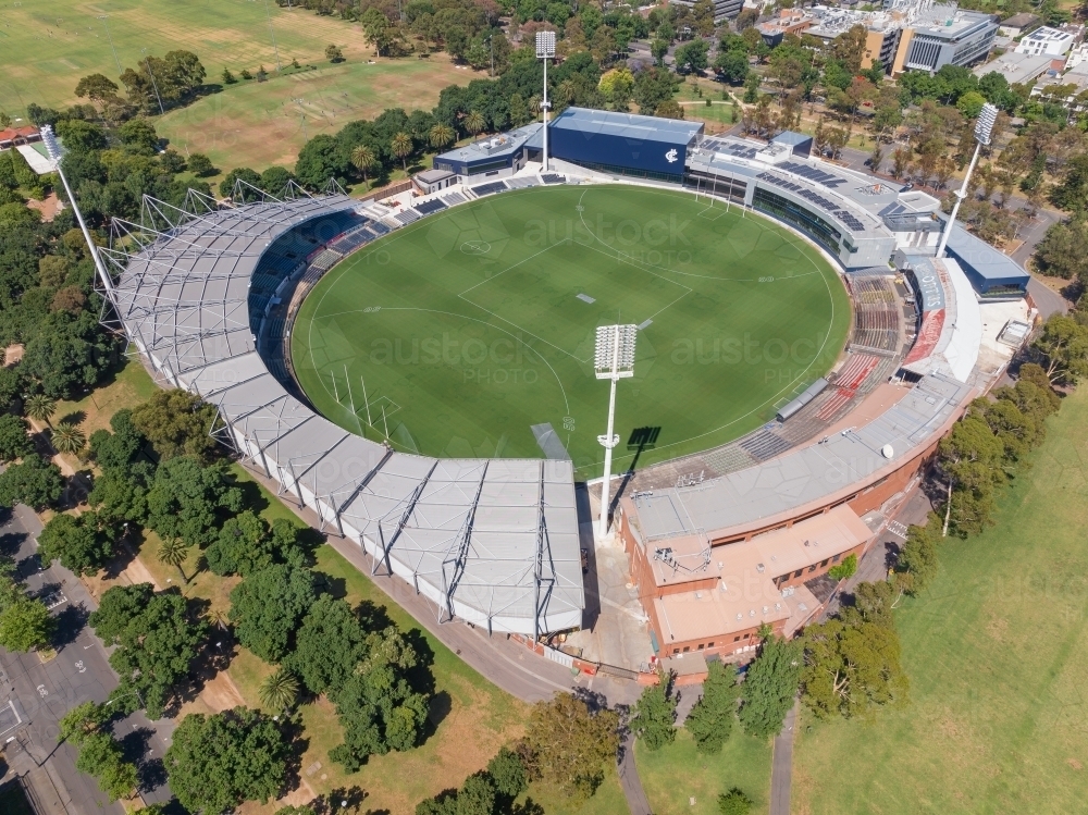
{"label": "large lower-right tree of the diagonal clump beside the lowest palm", "polygon": [[415,748],[422,738],[430,703],[430,694],[418,691],[409,680],[420,658],[396,627],[368,634],[366,647],[367,657],[333,694],[344,742],[329,757],[348,773],[370,755]]}

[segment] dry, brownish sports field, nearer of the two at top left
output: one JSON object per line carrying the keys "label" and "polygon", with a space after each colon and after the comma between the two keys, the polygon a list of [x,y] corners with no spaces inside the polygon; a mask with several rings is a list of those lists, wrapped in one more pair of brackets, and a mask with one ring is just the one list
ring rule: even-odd
{"label": "dry, brownish sports field, nearer of the two at top left", "polygon": [[[307,24],[312,16],[294,13],[307,14]],[[347,32],[346,24],[339,25]],[[358,37],[354,32],[351,36]],[[426,60],[383,58],[371,65],[360,52],[339,65],[317,64],[318,71],[227,85],[220,94],[156,118],[154,126],[183,156],[206,153],[222,173],[237,166],[258,172],[272,164],[289,169],[307,138],[335,134],[348,122],[373,119],[386,108],[429,111],[443,88],[484,76],[455,67],[445,53]]]}

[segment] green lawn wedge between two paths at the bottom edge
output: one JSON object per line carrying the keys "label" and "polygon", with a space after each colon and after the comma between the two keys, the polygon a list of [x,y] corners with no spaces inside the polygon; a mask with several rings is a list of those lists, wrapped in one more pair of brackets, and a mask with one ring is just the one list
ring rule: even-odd
{"label": "green lawn wedge between two paths at the bottom edge", "polygon": [[677,740],[670,746],[652,752],[640,740],[634,750],[639,778],[656,815],[717,813],[718,795],[733,787],[739,787],[755,803],[753,815],[767,812],[770,756],[769,740],[753,739],[737,724],[717,755],[696,751],[695,742],[683,729],[677,732]]}

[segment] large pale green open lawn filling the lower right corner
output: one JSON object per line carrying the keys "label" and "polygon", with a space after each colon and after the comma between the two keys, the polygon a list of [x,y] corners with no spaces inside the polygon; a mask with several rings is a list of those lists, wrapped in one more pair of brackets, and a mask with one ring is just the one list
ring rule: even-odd
{"label": "large pale green open lawn filling the lower right corner", "polygon": [[1065,399],[997,524],[941,551],[897,622],[911,705],[808,721],[794,812],[1066,813],[1088,793],[1088,388]]}

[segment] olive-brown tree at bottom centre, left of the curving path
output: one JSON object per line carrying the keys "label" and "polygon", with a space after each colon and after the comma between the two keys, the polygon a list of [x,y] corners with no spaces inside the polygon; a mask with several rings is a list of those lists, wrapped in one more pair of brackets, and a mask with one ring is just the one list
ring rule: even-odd
{"label": "olive-brown tree at bottom centre, left of the curving path", "polygon": [[616,761],[619,716],[593,713],[570,693],[537,702],[529,714],[524,745],[529,775],[574,801],[593,794],[604,780],[604,765]]}

